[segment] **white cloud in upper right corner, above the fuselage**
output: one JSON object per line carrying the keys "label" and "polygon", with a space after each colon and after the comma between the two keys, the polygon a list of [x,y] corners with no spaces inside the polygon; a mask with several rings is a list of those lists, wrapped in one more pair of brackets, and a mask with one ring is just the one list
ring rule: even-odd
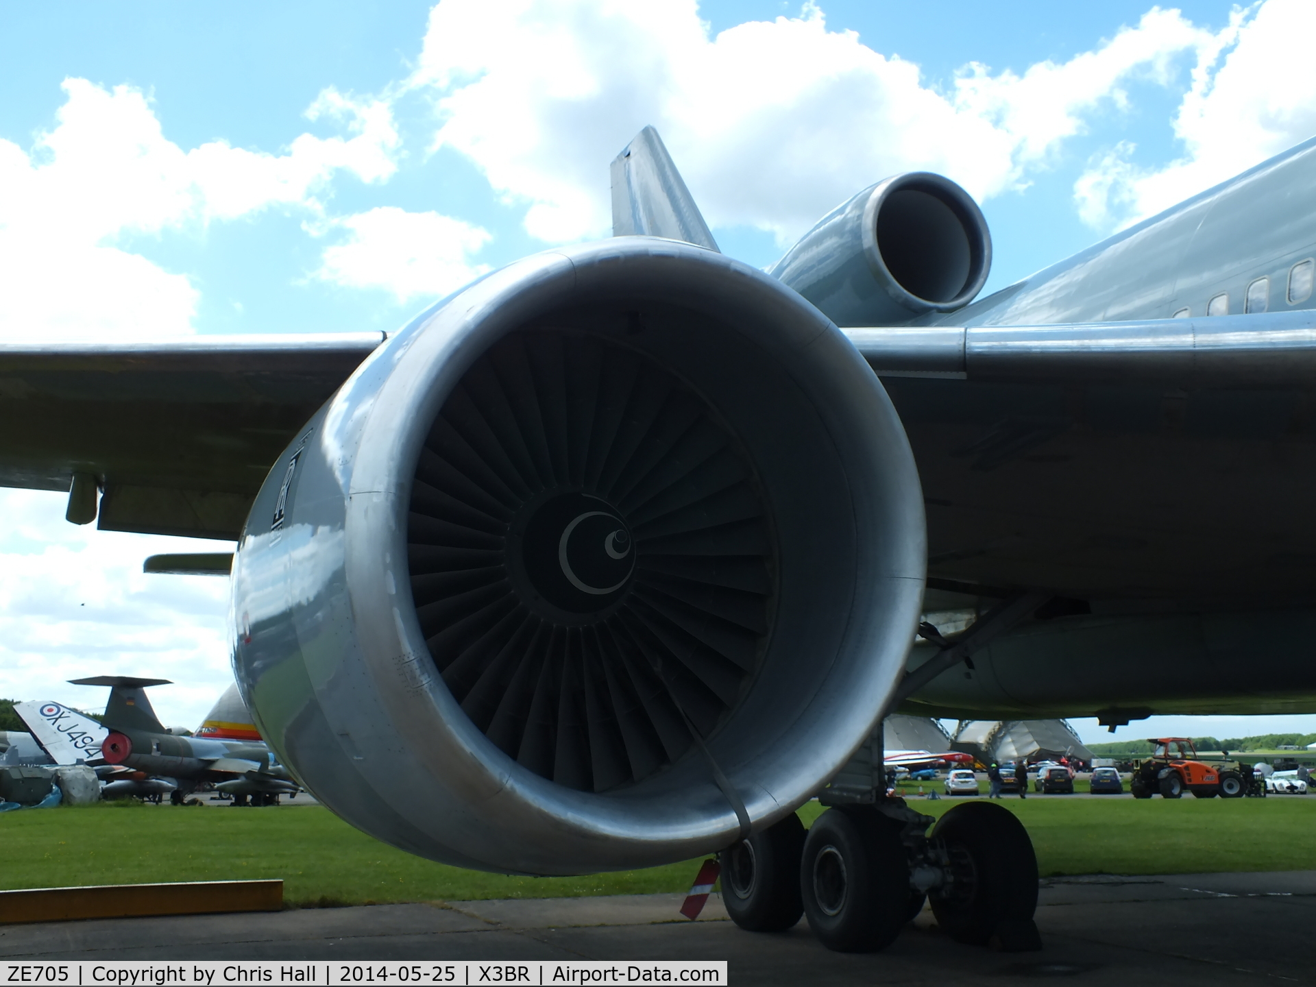
{"label": "white cloud in upper right corner, above the fuselage", "polygon": [[1083,218],[1104,229],[1137,222],[1316,133],[1313,33],[1316,7],[1304,0],[1236,11],[1198,45],[1174,118],[1182,157],[1138,166],[1130,145],[1099,155],[1075,184]]}

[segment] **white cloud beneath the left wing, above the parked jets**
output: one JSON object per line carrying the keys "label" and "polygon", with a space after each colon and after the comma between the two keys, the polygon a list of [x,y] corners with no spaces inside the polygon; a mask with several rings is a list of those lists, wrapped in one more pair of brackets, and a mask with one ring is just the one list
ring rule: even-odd
{"label": "white cloud beneath the left wing, above the parked jets", "polygon": [[228,580],[146,575],[146,555],[215,551],[215,542],[80,528],[66,495],[0,491],[0,696],[99,709],[88,675],[172,679],[153,690],[167,725],[195,729],[233,680]]}

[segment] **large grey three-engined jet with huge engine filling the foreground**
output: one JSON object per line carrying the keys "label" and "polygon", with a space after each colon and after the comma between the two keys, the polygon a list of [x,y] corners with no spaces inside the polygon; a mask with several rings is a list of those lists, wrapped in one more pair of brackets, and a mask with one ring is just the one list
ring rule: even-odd
{"label": "large grey three-engined jet with huge engine filling the foreground", "polygon": [[611,240],[395,334],[0,346],[0,483],[236,541],[146,569],[232,572],[262,736],[380,840],[525,874],[717,851],[746,928],[871,950],[928,898],[1030,949],[1023,826],[926,832],[875,726],[1316,709],[1313,188],[1307,142],[976,300],[953,182],[878,182],[765,272],[646,128]]}

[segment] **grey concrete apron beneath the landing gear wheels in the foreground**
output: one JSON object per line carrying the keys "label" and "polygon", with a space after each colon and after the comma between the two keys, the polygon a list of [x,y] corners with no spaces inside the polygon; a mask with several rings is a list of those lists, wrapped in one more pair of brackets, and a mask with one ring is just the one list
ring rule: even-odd
{"label": "grey concrete apron beneath the landing gear wheels in the foreground", "polygon": [[[1316,982],[1316,871],[1053,878],[1041,953],[962,946],[924,909],[869,955],[829,953],[807,923],[737,929],[720,900],[680,895],[443,901],[257,915],[0,926],[4,959],[726,959],[740,984],[983,984],[1070,978],[1109,987]],[[3,970],[0,965],[0,970]]]}

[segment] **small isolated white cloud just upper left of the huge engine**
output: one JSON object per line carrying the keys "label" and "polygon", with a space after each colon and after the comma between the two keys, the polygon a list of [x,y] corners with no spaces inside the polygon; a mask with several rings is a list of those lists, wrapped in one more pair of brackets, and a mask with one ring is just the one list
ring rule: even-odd
{"label": "small isolated white cloud just upper left of the huge engine", "polygon": [[436,212],[387,205],[334,220],[332,226],[347,238],[325,247],[316,276],[343,287],[383,288],[399,301],[434,299],[488,270],[470,261],[488,242],[488,230]]}

